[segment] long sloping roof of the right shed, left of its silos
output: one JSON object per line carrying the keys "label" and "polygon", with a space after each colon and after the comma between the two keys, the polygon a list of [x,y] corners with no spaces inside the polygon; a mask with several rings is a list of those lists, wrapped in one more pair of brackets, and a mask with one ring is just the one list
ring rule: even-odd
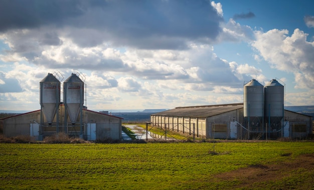
{"label": "long sloping roof of the right shed, left of its silos", "polygon": [[170,109],[152,115],[205,118],[241,108],[243,108],[243,103],[176,107],[175,109]]}

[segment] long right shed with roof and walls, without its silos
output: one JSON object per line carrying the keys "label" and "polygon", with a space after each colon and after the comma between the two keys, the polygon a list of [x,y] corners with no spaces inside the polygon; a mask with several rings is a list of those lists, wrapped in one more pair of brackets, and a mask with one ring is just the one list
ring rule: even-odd
{"label": "long right shed with roof and walls, without its silos", "polygon": [[[267,119],[267,118],[265,118]],[[263,123],[264,119],[261,119]],[[176,107],[150,115],[153,126],[183,133],[195,134],[202,138],[220,139],[265,139],[280,137],[305,138],[312,133],[312,117],[284,110],[284,120],[279,130],[267,128],[267,122],[248,128],[244,118],[243,103],[205,106]],[[271,134],[271,135],[270,135]]]}

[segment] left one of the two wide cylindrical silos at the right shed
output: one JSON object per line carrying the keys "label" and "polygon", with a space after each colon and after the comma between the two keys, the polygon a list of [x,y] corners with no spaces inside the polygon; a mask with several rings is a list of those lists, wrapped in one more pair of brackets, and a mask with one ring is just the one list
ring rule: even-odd
{"label": "left one of the two wide cylindrical silos at the right shed", "polygon": [[264,86],[252,79],[243,89],[244,120],[246,122],[248,138],[263,133],[264,116]]}

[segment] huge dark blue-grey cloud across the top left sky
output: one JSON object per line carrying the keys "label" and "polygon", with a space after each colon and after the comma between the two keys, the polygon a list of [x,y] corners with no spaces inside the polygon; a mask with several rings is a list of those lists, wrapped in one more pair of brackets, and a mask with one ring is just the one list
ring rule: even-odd
{"label": "huge dark blue-grey cloud across the top left sky", "polygon": [[12,0],[3,2],[0,18],[0,32],[54,29],[38,36],[34,43],[58,45],[59,39],[70,38],[80,47],[107,42],[141,49],[183,49],[187,40],[213,40],[223,21],[205,0]]}

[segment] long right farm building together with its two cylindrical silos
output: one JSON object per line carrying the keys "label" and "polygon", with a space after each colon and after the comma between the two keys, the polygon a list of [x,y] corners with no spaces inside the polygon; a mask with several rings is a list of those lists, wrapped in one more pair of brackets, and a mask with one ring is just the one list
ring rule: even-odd
{"label": "long right farm building together with its two cylindrical silos", "polygon": [[177,107],[150,115],[150,123],[203,138],[306,138],[312,117],[284,110],[284,88],[276,80],[265,86],[244,85],[243,103]]}

